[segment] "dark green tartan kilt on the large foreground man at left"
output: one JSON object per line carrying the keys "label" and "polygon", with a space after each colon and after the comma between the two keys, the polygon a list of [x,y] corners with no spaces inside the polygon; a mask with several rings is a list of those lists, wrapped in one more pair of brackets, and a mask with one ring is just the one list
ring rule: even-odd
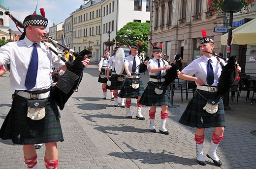
{"label": "dark green tartan kilt on the large foreground man at left", "polygon": [[27,99],[15,96],[11,109],[1,126],[0,138],[3,140],[10,139],[14,144],[20,145],[63,142],[57,105],[51,97],[46,98],[45,101],[45,117],[39,121],[34,121],[27,117]]}

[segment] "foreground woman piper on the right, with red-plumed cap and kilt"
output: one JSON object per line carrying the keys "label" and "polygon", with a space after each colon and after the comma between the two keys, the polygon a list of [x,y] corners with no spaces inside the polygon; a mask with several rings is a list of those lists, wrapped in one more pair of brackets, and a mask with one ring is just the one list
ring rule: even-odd
{"label": "foreground woman piper on the right, with red-plumed cap and kilt", "polygon": [[[194,135],[196,159],[198,164],[202,166],[206,165],[203,156],[204,131],[205,128],[215,127],[207,157],[212,159],[216,166],[220,167],[222,162],[218,158],[216,150],[224,138],[224,128],[226,126],[223,100],[218,91],[223,67],[212,54],[214,49],[213,38],[207,36],[205,30],[202,30],[202,36],[199,42],[203,56],[193,60],[179,74],[179,78],[195,81],[197,84],[195,95],[189,102],[179,122],[196,127]],[[240,71],[241,68],[238,65],[235,66],[235,78]]]}

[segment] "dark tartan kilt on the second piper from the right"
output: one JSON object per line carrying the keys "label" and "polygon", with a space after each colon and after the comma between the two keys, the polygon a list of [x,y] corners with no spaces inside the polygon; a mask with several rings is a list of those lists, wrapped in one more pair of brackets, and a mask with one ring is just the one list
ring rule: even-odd
{"label": "dark tartan kilt on the second piper from the right", "polygon": [[[163,86],[163,92],[161,95],[156,94],[155,87],[156,84]],[[161,106],[168,105],[171,106],[170,95],[168,92],[168,87],[165,82],[148,82],[148,86],[146,87],[142,97],[139,100],[139,103],[146,106]]]}

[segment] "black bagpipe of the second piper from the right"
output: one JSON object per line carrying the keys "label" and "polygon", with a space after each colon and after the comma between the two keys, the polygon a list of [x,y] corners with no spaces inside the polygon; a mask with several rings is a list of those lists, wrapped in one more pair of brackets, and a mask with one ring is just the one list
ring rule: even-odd
{"label": "black bagpipe of the second piper from the right", "polygon": [[[148,39],[148,41],[149,41],[150,45],[154,48],[155,46],[152,44],[151,40]],[[164,75],[165,83],[168,86],[169,84],[174,82],[174,80],[176,79],[176,77],[177,77],[177,70],[179,70],[179,64],[171,63],[171,62],[169,62],[168,60],[166,60],[165,58],[163,58],[161,56],[160,56],[160,58],[162,60],[166,61],[167,63],[169,63],[169,66],[170,66],[170,69],[165,70],[166,74]],[[167,65],[167,64],[165,64],[165,65]]]}

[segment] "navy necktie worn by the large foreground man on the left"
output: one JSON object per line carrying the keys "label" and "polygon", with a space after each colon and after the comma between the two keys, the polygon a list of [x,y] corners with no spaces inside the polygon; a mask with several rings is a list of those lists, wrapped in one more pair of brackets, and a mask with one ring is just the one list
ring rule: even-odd
{"label": "navy necktie worn by the large foreground man on the left", "polygon": [[25,87],[30,90],[35,86],[37,70],[38,70],[38,54],[36,49],[36,43],[33,44],[33,52],[30,60],[30,65],[25,80]]}

